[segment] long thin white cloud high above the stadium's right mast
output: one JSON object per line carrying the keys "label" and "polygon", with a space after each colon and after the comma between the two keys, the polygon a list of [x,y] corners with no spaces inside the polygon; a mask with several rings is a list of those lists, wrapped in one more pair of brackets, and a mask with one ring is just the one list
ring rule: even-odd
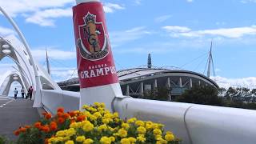
{"label": "long thin white cloud high above the stadium's right mast", "polygon": [[170,36],[173,37],[203,37],[220,36],[225,38],[242,38],[245,35],[255,35],[256,26],[234,27],[234,28],[220,28],[212,30],[190,30],[188,27],[183,26],[164,26],[162,27],[167,32],[170,32]]}

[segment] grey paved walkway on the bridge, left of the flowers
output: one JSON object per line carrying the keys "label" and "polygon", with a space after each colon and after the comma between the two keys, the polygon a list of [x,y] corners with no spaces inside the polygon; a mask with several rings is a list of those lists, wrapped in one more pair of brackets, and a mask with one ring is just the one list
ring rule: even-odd
{"label": "grey paved walkway on the bridge, left of the flowers", "polygon": [[40,119],[38,110],[29,99],[0,98],[0,135],[10,140],[17,139],[13,134],[19,126],[31,125]]}

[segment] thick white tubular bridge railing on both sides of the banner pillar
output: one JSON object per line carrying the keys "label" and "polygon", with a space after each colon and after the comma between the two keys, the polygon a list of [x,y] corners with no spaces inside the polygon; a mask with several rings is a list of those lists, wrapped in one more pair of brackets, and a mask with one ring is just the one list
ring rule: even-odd
{"label": "thick white tubular bridge railing on both sides of the banner pillar", "polygon": [[[65,90],[42,90],[42,104],[53,114],[58,106],[78,110],[79,96]],[[256,110],[129,97],[116,98],[113,108],[122,118],[161,122],[185,144],[256,143]]]}

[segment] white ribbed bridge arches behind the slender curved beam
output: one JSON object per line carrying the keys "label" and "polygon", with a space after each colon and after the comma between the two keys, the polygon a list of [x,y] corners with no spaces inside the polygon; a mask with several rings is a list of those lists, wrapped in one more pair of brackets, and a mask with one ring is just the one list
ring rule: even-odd
{"label": "white ribbed bridge arches behind the slender curved beam", "polygon": [[[11,83],[15,81],[15,75],[18,76],[16,81],[18,81],[26,91],[30,86],[33,86],[34,90],[36,90],[34,70],[31,65],[28,52],[22,45],[22,42],[20,42],[14,35],[9,35],[5,38],[0,37],[0,50],[0,61],[2,58],[8,57],[18,66],[17,72],[2,75],[2,77],[5,77],[2,79],[5,80],[0,83],[0,94],[2,93],[3,96],[8,95]],[[44,70],[42,66],[36,63],[36,67],[42,89],[60,90],[60,87],[52,80],[52,78],[50,78],[50,75],[47,74],[46,70]],[[34,99],[34,95],[35,94],[33,94],[32,99]]]}

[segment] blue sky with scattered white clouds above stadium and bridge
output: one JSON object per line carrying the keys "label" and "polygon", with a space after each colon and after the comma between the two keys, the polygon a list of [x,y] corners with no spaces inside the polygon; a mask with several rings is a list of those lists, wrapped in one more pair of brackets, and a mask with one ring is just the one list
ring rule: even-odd
{"label": "blue sky with scattered white clouds above stadium and bridge", "polygon": [[[150,53],[153,66],[203,74],[213,41],[213,79],[222,86],[256,87],[256,0],[102,2],[118,70],[146,65]],[[56,81],[75,75],[73,0],[0,0],[0,6],[18,23],[42,65],[45,48],[50,51]],[[8,34],[14,31],[0,16],[0,35]]]}

